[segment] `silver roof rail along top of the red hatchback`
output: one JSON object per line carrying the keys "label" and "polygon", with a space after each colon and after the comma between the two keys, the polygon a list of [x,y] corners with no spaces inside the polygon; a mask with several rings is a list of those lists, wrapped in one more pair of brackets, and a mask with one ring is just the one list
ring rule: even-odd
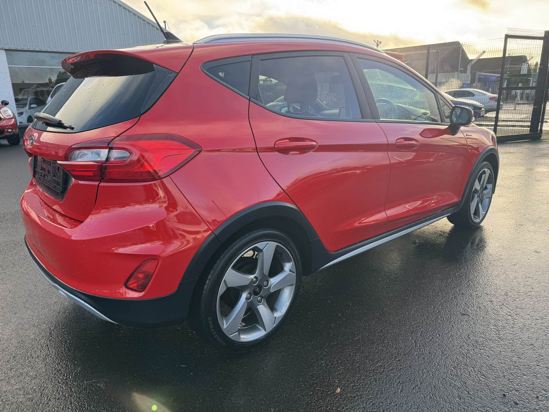
{"label": "silver roof rail along top of the red hatchback", "polygon": [[357,42],[354,40],[348,40],[346,38],[330,37],[330,36],[317,36],[317,35],[305,35],[305,34],[285,34],[285,33],[240,33],[240,34],[222,34],[201,38],[194,42],[194,44],[204,43],[228,43],[228,42],[244,42],[244,41],[277,41],[277,40],[306,40],[306,41],[318,41],[318,42],[330,42],[341,44],[352,44],[352,46],[365,47],[373,51],[383,53],[384,51],[377,47]]}

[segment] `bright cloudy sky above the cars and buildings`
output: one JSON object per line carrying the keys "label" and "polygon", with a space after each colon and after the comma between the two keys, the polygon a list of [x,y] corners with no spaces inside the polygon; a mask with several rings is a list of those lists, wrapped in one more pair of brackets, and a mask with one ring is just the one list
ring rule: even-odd
{"label": "bright cloudy sky above the cars and buildings", "polygon": [[[122,0],[150,16],[142,0]],[[149,0],[184,41],[242,32],[337,36],[381,48],[549,29],[549,0]]]}

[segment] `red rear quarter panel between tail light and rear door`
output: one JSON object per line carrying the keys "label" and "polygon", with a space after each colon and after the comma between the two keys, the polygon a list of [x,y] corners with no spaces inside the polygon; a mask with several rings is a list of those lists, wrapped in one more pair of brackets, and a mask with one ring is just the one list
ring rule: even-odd
{"label": "red rear quarter panel between tail light and rear door", "polygon": [[257,157],[248,99],[200,69],[224,57],[219,52],[197,47],[163,97],[127,132],[159,132],[165,124],[200,145],[200,154],[171,177],[211,230],[256,203],[292,203]]}

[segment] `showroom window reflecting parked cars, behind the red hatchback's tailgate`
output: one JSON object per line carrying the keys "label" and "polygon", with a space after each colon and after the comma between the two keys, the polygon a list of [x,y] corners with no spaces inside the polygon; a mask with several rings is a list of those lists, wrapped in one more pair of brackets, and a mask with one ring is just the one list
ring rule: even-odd
{"label": "showroom window reflecting parked cars, behind the red hatchback's tailgate", "polygon": [[61,60],[72,53],[6,51],[19,123],[31,123],[40,112],[53,88],[70,75],[61,69]]}

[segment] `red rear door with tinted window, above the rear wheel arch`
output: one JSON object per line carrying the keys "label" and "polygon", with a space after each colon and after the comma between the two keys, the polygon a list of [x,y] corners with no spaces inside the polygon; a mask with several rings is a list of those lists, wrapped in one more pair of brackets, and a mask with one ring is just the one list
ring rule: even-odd
{"label": "red rear door with tinted window, above the rear wheel arch", "polygon": [[256,55],[251,71],[259,156],[324,246],[334,251],[386,231],[388,143],[369,119],[349,55]]}

